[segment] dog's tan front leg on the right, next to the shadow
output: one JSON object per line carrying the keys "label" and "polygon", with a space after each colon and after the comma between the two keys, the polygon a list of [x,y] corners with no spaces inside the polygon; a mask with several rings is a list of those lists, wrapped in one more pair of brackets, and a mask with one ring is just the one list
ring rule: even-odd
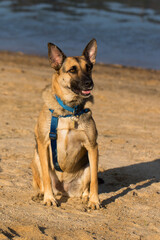
{"label": "dog's tan front leg on the right, next to the shadow", "polygon": [[88,206],[91,209],[99,209],[100,202],[98,197],[98,145],[88,149],[91,182],[90,182],[90,197]]}

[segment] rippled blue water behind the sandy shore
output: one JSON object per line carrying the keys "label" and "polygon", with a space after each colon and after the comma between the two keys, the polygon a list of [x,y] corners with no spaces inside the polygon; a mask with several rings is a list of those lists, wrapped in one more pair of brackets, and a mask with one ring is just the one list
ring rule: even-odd
{"label": "rippled blue water behind the sandy shore", "polygon": [[160,1],[0,0],[0,50],[80,55],[93,37],[98,62],[160,69]]}

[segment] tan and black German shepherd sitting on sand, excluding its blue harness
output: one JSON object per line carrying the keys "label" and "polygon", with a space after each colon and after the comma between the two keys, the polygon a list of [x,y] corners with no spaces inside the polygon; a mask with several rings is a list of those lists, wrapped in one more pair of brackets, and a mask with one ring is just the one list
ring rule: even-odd
{"label": "tan and black German shepherd sitting on sand, excluding its blue harness", "polygon": [[[66,57],[54,44],[48,43],[48,56],[55,70],[52,86],[44,92],[44,106],[36,127],[35,156],[31,163],[33,186],[42,194],[47,206],[57,205],[57,194],[81,197],[91,209],[99,209],[97,130],[91,111],[79,116],[64,109],[64,105],[85,108],[91,101],[93,89],[92,68],[97,53],[97,42],[92,39],[82,56]],[[51,113],[49,109],[53,109]],[[57,159],[62,171],[53,164],[49,138],[52,115],[59,117],[57,126]]]}

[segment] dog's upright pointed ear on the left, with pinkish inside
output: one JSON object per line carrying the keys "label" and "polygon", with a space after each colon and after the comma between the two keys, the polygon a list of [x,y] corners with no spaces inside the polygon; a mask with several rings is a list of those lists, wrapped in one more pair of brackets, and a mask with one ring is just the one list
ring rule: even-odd
{"label": "dog's upright pointed ear on the left, with pinkish inside", "polygon": [[66,56],[56,45],[48,43],[48,58],[51,67],[58,71],[61,68]]}

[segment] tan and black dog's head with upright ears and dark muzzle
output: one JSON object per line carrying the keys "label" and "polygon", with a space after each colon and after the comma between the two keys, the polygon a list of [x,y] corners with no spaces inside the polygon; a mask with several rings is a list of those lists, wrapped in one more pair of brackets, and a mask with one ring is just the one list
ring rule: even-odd
{"label": "tan and black dog's head with upright ears and dark muzzle", "polygon": [[58,74],[58,82],[64,89],[75,95],[87,98],[93,89],[92,68],[97,54],[97,42],[92,39],[82,56],[66,57],[54,44],[48,43],[48,56],[51,67]]}

